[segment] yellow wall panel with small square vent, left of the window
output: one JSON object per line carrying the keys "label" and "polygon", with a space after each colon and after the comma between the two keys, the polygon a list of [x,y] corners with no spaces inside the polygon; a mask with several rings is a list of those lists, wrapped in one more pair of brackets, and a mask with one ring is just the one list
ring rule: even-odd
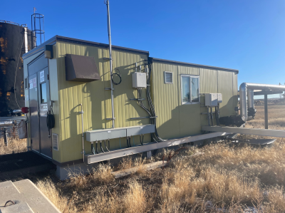
{"label": "yellow wall panel with small square vent, left of the window", "polygon": [[[173,84],[166,84],[164,72],[173,73]],[[177,66],[167,63],[153,63],[153,104],[157,114],[157,132],[163,139],[180,137]]]}

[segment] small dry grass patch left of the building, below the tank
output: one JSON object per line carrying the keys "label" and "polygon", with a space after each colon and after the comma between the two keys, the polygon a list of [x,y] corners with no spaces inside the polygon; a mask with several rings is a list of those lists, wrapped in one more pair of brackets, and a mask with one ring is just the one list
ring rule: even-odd
{"label": "small dry grass patch left of the building, below the tank", "polygon": [[27,142],[26,139],[8,138],[8,146],[4,143],[4,138],[0,138],[0,155],[6,155],[16,152],[26,152]]}

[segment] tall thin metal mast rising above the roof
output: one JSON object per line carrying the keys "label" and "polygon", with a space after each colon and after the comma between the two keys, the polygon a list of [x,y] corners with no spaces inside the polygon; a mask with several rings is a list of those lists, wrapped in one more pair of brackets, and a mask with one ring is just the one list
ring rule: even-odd
{"label": "tall thin metal mast rising above the roof", "polygon": [[106,1],[107,5],[107,16],[108,16],[108,38],[109,38],[109,56],[110,56],[110,85],[111,85],[111,105],[112,105],[112,128],[115,128],[115,112],[114,112],[114,90],[113,90],[113,58],[112,58],[112,43],[111,43],[111,29],[110,29],[110,11],[109,11],[109,0]]}

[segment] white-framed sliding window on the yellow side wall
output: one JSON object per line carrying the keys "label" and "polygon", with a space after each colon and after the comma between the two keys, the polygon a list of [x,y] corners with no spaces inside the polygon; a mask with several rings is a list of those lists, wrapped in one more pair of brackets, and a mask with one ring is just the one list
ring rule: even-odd
{"label": "white-framed sliding window on the yellow side wall", "polygon": [[199,76],[181,76],[182,104],[199,103]]}

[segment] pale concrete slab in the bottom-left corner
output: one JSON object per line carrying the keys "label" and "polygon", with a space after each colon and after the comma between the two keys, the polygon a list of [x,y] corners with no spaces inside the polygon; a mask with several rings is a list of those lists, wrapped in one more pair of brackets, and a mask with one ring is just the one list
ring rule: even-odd
{"label": "pale concrete slab in the bottom-left corner", "polygon": [[[0,183],[0,211],[8,207],[4,204],[11,200],[16,204],[9,206],[18,206],[19,209],[24,208],[25,202],[31,208],[32,212],[38,213],[60,213],[56,206],[31,182],[31,180],[20,180],[17,182],[1,182]],[[16,208],[16,207],[14,207]],[[27,209],[26,209],[27,210]],[[17,211],[16,211],[17,212]]]}

